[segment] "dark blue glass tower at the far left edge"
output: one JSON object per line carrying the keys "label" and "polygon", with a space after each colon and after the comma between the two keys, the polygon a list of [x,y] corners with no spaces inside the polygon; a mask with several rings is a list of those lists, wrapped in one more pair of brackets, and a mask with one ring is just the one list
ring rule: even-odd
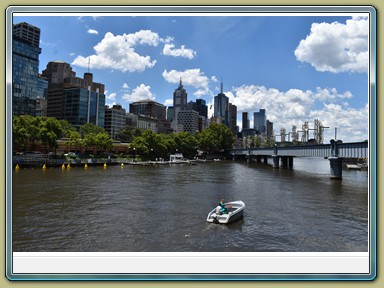
{"label": "dark blue glass tower at the far left edge", "polygon": [[12,32],[12,113],[36,115],[40,29],[22,22]]}

